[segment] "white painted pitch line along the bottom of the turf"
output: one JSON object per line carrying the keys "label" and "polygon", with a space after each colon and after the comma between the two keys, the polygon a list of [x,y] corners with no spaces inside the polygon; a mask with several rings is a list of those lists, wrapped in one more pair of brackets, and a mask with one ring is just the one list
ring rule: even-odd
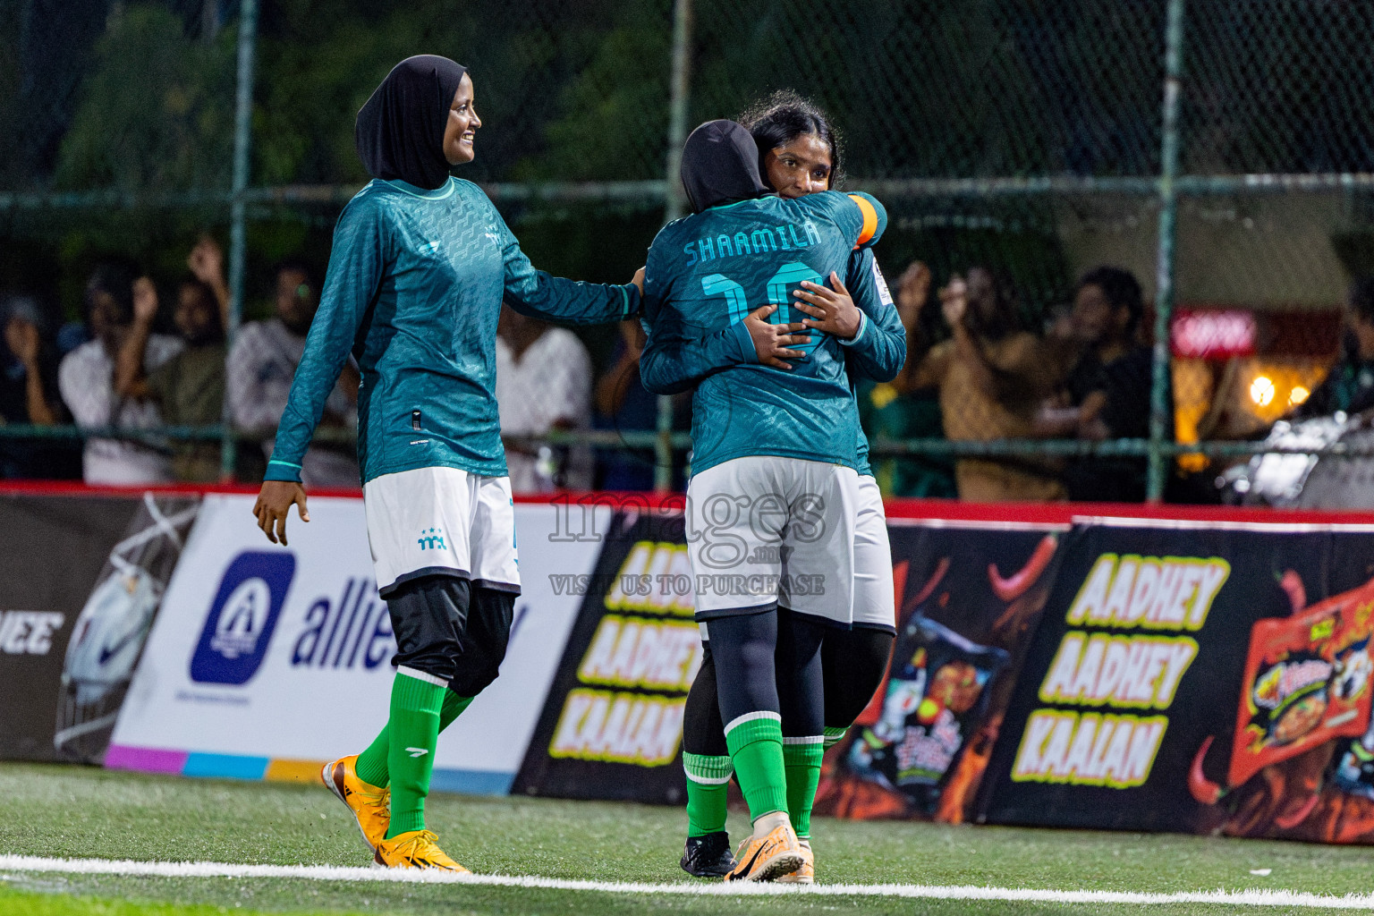
{"label": "white painted pitch line along the bottom of the turf", "polygon": [[1030,887],[941,887],[934,884],[725,884],[723,882],[650,884],[588,882],[521,875],[451,875],[436,871],[345,868],[339,865],[235,865],[229,862],[137,862],[104,858],[0,856],[0,872],[59,872],[135,878],[289,878],[319,882],[396,882],[409,884],[485,884],[602,894],[820,894],[824,897],[908,897],[921,900],[996,900],[1037,904],[1228,904],[1232,906],[1304,906],[1374,909],[1374,894],[1308,894],[1285,890],[1215,890],[1149,894],[1109,890],[1041,890]]}

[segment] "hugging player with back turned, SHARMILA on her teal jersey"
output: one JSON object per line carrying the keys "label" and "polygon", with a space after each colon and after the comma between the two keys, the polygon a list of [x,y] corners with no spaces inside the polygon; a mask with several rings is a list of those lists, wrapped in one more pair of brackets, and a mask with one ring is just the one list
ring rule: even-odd
{"label": "hugging player with back turned, SHARMILA on her teal jersey", "polygon": [[[845,271],[886,214],[867,195],[775,196],[757,146],[731,121],[692,132],[682,173],[694,214],[649,251],[640,374],[651,391],[695,386],[687,534],[697,619],[753,818],[725,880],[775,880],[807,864],[787,797],[793,781],[815,787],[822,636],[852,618],[861,433],[845,353],[881,339],[863,319],[824,323],[835,334],[818,324],[776,338],[804,357],[787,367],[756,357],[750,321],[768,312],[796,330],[794,291]],[[785,746],[807,748],[798,768],[785,768]]]}

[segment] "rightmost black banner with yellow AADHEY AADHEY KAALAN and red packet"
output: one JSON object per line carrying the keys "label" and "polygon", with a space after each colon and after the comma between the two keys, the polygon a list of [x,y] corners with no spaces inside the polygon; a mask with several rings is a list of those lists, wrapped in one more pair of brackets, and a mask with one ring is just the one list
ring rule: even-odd
{"label": "rightmost black banner with yellow AADHEY AADHEY KAALAN and red packet", "polygon": [[1077,525],[987,820],[1374,839],[1374,530]]}

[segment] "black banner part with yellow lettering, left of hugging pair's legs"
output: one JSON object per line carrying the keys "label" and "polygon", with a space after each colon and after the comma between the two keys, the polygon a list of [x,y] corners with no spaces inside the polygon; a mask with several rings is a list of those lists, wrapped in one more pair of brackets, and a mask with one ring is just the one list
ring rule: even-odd
{"label": "black banner part with yellow lettering, left of hugging pair's legs", "polygon": [[581,603],[514,791],[679,803],[682,724],[701,667],[680,512],[620,509]]}

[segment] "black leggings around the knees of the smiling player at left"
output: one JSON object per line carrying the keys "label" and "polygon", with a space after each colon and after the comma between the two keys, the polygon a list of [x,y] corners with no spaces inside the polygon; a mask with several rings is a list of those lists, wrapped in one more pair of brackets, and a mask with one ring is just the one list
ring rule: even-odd
{"label": "black leggings around the knees of the smiling player at left", "polygon": [[477,696],[496,680],[510,643],[514,592],[426,575],[400,585],[386,607],[396,632],[393,665],[445,680],[459,696]]}

